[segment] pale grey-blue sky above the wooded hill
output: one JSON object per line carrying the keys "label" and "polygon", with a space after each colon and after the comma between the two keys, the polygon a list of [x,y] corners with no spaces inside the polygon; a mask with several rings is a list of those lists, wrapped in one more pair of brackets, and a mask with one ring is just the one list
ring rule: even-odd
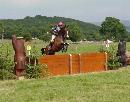
{"label": "pale grey-blue sky above the wooded hill", "polygon": [[106,17],[130,20],[130,0],[0,0],[0,19],[60,16],[85,22]]}

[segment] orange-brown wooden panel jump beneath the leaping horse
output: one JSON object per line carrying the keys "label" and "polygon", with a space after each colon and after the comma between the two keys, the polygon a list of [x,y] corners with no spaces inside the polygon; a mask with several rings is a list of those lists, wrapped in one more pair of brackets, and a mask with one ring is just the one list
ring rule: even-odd
{"label": "orange-brown wooden panel jump beneath the leaping horse", "polygon": [[39,59],[51,75],[68,75],[107,70],[106,53],[46,55]]}

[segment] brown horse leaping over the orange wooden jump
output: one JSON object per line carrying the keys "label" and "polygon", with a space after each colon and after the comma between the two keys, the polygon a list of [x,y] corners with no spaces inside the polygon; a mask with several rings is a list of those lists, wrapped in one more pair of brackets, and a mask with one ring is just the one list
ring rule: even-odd
{"label": "brown horse leaping over the orange wooden jump", "polygon": [[50,47],[49,44],[45,48],[41,49],[42,54],[54,55],[55,52],[58,52],[60,50],[62,50],[62,52],[66,52],[68,48],[68,44],[67,43],[64,44],[64,42],[67,38],[67,31],[68,30],[66,26],[61,28],[61,30],[58,32],[58,35],[55,37],[52,46]]}

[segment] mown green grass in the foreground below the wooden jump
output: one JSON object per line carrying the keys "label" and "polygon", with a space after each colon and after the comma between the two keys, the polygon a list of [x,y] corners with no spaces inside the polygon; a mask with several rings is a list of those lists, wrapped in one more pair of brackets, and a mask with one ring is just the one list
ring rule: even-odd
{"label": "mown green grass in the foreground below the wooden jump", "polygon": [[0,81],[0,102],[130,102],[130,66],[100,73]]}

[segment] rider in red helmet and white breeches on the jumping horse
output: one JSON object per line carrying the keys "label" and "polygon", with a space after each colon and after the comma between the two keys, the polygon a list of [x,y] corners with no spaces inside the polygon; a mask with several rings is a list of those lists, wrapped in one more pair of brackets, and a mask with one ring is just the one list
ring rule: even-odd
{"label": "rider in red helmet and white breeches on the jumping horse", "polygon": [[[55,37],[58,35],[58,32],[59,32],[63,27],[65,27],[65,24],[60,21],[57,25],[54,25],[54,27],[51,29],[52,37],[51,37],[50,46],[52,46]],[[69,36],[68,36],[68,31],[67,31],[67,37],[69,37]]]}

